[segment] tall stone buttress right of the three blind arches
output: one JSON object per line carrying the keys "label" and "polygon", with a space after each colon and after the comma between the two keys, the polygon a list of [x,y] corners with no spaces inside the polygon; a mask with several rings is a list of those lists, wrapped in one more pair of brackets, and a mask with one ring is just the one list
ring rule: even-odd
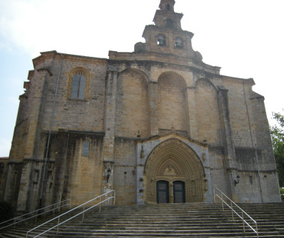
{"label": "tall stone buttress right of the three blind arches", "polygon": [[219,114],[220,114],[220,124],[222,129],[222,143],[224,145],[224,158],[225,166],[228,177],[228,192],[231,194],[232,198],[236,194],[235,180],[237,181],[237,169],[236,169],[236,156],[234,152],[234,144],[231,133],[231,124],[229,118],[229,101],[228,101],[228,91],[224,87],[219,86],[219,91],[217,92],[218,102],[219,102]]}

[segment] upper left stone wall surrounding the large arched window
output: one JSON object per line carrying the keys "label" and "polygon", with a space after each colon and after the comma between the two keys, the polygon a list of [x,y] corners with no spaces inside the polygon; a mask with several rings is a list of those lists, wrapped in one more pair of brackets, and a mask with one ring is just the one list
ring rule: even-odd
{"label": "upper left stone wall surrounding the large arched window", "polygon": [[[55,105],[55,117],[53,130],[71,129],[74,131],[103,131],[104,130],[104,98],[105,98],[105,77],[107,74],[107,63],[104,60],[86,62],[86,59],[63,58],[58,84],[58,97]],[[55,88],[60,67],[60,58],[53,63],[53,77],[50,77],[48,85],[47,102],[45,114],[41,121],[43,128],[49,129],[50,118],[55,98]],[[89,72],[86,88],[88,97],[85,99],[70,99],[68,95],[69,84],[72,84],[70,77],[71,70],[76,67],[83,67]]]}

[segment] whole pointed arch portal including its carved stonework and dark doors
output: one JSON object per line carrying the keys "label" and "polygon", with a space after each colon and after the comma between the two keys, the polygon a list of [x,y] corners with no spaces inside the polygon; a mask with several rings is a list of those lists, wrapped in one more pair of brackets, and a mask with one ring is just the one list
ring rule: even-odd
{"label": "whole pointed arch portal including its carved stonework and dark doors", "polygon": [[146,203],[204,202],[205,173],[195,151],[178,139],[156,146],[144,168]]}

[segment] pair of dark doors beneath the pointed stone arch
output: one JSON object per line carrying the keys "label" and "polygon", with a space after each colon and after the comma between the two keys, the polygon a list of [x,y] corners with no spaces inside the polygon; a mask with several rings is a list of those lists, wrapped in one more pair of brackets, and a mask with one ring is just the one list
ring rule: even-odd
{"label": "pair of dark doors beneath the pointed stone arch", "polygon": [[157,202],[169,203],[170,196],[173,197],[172,202],[174,203],[185,202],[185,182],[174,181],[173,186],[170,186],[168,181],[157,181]]}

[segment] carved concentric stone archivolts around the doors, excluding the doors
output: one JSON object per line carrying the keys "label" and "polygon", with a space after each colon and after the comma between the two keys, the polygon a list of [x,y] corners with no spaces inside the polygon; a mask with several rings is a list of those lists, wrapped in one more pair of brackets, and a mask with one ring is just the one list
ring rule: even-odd
{"label": "carved concentric stone archivolts around the doors, excluding the doors", "polygon": [[[174,175],[163,173],[167,168]],[[204,202],[205,173],[200,158],[195,151],[178,139],[168,139],[156,146],[148,156],[144,168],[146,201],[156,202],[156,182],[163,176],[168,181],[185,181],[185,201]]]}

